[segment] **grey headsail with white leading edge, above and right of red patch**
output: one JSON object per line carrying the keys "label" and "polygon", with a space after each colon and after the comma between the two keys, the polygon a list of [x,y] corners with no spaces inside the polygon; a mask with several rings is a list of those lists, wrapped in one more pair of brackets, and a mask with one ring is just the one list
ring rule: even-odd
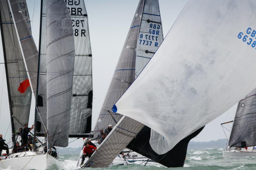
{"label": "grey headsail with white leading edge, above and right of red patch", "polygon": [[[14,21],[14,26],[16,33],[19,38],[19,43],[21,46],[21,53],[25,61],[26,70],[28,79],[31,85],[31,88],[36,95],[36,84],[37,84],[37,64],[38,64],[38,51],[36,44],[31,34],[31,29],[28,27],[27,20],[24,17],[25,12],[21,11],[23,4],[20,5],[18,0],[8,0],[10,5],[10,10],[12,12],[12,19]],[[24,13],[24,14],[23,14]]]}

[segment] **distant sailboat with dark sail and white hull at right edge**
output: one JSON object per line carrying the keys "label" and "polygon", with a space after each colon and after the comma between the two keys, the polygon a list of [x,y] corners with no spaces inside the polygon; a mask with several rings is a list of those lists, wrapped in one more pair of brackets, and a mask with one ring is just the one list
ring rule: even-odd
{"label": "distant sailboat with dark sail and white hull at right edge", "polygon": [[238,102],[235,119],[230,121],[233,122],[233,126],[223,157],[256,157],[255,94],[256,89]]}

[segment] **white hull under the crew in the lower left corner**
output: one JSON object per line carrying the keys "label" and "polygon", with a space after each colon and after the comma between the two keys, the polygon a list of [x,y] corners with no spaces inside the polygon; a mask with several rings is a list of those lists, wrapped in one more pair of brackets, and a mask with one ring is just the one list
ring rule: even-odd
{"label": "white hull under the crew in the lower left corner", "polygon": [[[1,158],[2,159],[2,158]],[[7,159],[0,161],[0,169],[47,169],[52,164],[57,164],[58,160],[51,155],[36,152],[20,152],[11,154]]]}

